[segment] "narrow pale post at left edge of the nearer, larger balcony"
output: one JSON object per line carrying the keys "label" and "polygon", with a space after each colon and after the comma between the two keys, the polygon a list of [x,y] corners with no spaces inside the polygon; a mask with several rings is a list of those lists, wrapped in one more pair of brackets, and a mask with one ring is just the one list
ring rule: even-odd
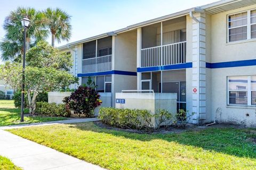
{"label": "narrow pale post at left edge of the nearer, larger balcony", "polygon": [[[137,68],[141,66],[141,28],[137,29]],[[137,89],[140,90],[141,73],[137,72]]]}

